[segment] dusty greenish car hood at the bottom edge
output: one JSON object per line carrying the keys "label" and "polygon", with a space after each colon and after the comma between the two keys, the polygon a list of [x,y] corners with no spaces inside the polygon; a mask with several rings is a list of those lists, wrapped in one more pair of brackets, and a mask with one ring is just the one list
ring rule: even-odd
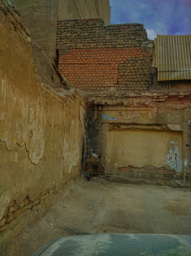
{"label": "dusty greenish car hood at the bottom edge", "polygon": [[190,256],[191,236],[103,234],[60,237],[32,256]]}

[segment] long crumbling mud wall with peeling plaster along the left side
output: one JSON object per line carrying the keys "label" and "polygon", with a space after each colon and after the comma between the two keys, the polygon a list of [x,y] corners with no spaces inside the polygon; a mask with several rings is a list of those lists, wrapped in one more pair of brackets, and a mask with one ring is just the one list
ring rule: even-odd
{"label": "long crumbling mud wall with peeling plaster along the left side", "polygon": [[1,254],[10,230],[30,214],[40,218],[79,176],[84,111],[80,94],[39,46],[30,44],[7,1],[0,1],[0,26]]}

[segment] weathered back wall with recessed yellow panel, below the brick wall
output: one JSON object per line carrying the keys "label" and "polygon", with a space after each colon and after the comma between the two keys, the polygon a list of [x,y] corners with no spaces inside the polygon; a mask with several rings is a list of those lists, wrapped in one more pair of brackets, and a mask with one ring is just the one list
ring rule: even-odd
{"label": "weathered back wall with recessed yellow panel, below the brick wall", "polygon": [[191,182],[190,91],[93,96],[86,96],[90,175]]}

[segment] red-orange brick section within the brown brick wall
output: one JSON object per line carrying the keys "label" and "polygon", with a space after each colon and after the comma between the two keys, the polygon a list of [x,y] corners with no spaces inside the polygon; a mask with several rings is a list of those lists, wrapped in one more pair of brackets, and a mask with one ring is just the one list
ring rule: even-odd
{"label": "red-orange brick section within the brown brick wall", "polygon": [[76,86],[114,86],[125,49],[71,50],[59,56],[59,70]]}

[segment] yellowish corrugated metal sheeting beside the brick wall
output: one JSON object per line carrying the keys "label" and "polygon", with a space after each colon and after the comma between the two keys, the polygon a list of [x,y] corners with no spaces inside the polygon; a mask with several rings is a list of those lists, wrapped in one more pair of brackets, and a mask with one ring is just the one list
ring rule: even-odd
{"label": "yellowish corrugated metal sheeting beside the brick wall", "polygon": [[191,35],[157,35],[157,80],[191,79]]}

